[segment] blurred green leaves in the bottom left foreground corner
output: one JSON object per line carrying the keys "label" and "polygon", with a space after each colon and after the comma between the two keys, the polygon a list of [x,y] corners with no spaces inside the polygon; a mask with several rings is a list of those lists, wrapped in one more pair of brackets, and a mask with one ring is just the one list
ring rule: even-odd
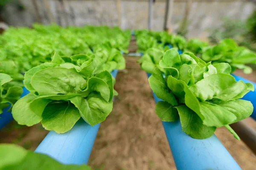
{"label": "blurred green leaves in the bottom left foreground corner", "polygon": [[42,153],[15,144],[0,144],[0,170],[91,170],[85,164],[61,164]]}

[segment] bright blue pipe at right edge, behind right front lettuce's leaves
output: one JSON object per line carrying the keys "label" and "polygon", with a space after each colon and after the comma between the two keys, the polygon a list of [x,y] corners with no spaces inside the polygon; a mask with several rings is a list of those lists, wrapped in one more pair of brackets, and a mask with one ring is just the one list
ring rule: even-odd
{"label": "bright blue pipe at right edge, behind right front lettuce's leaves", "polygon": [[242,80],[243,82],[250,82],[253,84],[254,86],[254,91],[249,91],[247,94],[244,95],[244,97],[242,97],[242,99],[244,100],[248,100],[253,104],[253,113],[251,115],[251,117],[256,120],[256,83],[255,82],[251,82],[247,79],[244,79],[243,77],[237,76],[235,74],[232,74],[233,77],[235,77],[236,81]]}

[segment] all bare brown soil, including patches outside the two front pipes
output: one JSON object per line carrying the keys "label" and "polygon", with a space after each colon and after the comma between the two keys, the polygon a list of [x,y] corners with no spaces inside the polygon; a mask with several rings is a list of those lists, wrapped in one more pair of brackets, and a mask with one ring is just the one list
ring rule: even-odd
{"label": "all bare brown soil, including patches outside the two front pipes", "polygon": [[[131,48],[136,45],[131,42]],[[130,51],[133,51],[130,49]],[[136,63],[138,57],[125,57],[126,69],[116,77],[113,111],[102,122],[90,156],[94,170],[175,170],[163,126],[154,111],[155,102],[145,71]],[[256,82],[256,71],[244,75]],[[247,124],[256,129],[256,122]],[[35,150],[48,131],[41,125],[25,127],[14,121],[0,130],[0,143],[16,143]],[[215,132],[243,170],[255,170],[256,156],[224,128]]]}

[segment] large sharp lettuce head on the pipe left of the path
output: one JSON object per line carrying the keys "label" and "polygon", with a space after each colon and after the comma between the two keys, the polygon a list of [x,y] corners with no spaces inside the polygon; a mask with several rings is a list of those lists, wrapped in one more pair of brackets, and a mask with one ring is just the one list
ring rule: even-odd
{"label": "large sharp lettuce head on the pipe left of the path", "polygon": [[108,71],[96,74],[97,64],[86,55],[65,62],[58,54],[25,73],[24,85],[30,94],[18,100],[12,109],[21,125],[39,122],[47,130],[64,133],[80,119],[96,125],[113,108],[114,78]]}

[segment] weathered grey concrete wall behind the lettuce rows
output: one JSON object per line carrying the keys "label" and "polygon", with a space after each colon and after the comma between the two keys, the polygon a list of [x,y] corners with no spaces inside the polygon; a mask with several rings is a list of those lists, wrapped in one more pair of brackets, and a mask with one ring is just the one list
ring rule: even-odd
{"label": "weathered grey concrete wall behind the lettuce rows", "polygon": [[[172,3],[172,1],[174,1]],[[20,0],[25,6],[18,11],[6,6],[3,17],[9,25],[31,26],[33,22],[61,26],[108,25],[116,26],[121,19],[122,28],[143,29],[148,26],[147,0]],[[186,0],[170,0],[168,26],[174,30],[183,19]],[[193,0],[189,12],[188,37],[207,36],[206,29],[219,26],[225,16],[245,19],[255,9],[251,0]],[[120,10],[121,16],[118,16]],[[156,0],[153,6],[153,30],[163,30],[165,0]]]}

